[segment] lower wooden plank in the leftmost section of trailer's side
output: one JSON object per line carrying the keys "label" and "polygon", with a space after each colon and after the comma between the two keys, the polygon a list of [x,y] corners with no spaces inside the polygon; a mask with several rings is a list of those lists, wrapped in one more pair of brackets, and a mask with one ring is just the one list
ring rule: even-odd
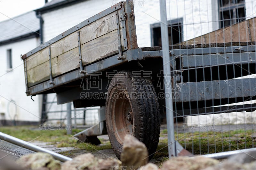
{"label": "lower wooden plank in the leftmost section of trailer's side", "polygon": [[[48,48],[47,48],[48,49]],[[50,64],[49,61],[44,62],[27,71],[28,74],[28,86],[31,87],[40,82],[50,79]]]}

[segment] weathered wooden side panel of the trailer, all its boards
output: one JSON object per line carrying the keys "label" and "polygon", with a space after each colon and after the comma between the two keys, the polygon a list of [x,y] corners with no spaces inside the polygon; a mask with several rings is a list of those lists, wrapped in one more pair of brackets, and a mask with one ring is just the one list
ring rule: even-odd
{"label": "weathered wooden side panel of the trailer, all its boards", "polygon": [[[121,16],[120,10],[118,13]],[[83,65],[118,53],[119,44],[116,22],[116,12],[112,12],[78,30]],[[121,44],[124,50],[123,26],[120,17],[119,25]],[[49,47],[27,58],[29,87],[50,79],[50,54],[53,78],[80,67],[78,31],[50,44]]]}

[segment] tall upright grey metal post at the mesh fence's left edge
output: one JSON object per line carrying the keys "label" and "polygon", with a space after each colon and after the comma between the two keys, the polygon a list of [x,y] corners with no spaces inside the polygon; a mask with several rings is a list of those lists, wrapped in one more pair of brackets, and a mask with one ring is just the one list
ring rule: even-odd
{"label": "tall upright grey metal post at the mesh fence's left edge", "polygon": [[169,158],[176,156],[175,137],[174,137],[174,122],[173,122],[173,106],[172,106],[172,86],[171,83],[171,67],[169,54],[169,39],[168,25],[166,17],[165,0],[160,0],[160,15],[161,15],[161,38],[163,50],[163,66],[164,66],[164,92],[170,94],[169,98],[165,98],[166,105],[166,120],[168,130],[168,153]]}

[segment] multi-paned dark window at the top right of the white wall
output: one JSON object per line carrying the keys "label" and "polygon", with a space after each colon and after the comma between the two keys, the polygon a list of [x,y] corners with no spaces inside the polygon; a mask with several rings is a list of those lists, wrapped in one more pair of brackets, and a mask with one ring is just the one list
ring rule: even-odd
{"label": "multi-paned dark window at the top right of the white wall", "polygon": [[244,0],[219,0],[220,28],[245,20]]}

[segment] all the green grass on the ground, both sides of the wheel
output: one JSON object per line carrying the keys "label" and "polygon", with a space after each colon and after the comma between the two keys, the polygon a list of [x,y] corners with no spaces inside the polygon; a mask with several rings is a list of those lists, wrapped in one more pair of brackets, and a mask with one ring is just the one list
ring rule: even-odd
{"label": "all the green grass on the ground, both sides of the wheel", "polygon": [[[88,143],[78,143],[75,138],[66,134],[66,130],[38,130],[38,127],[17,126],[17,127],[1,127],[0,131],[8,135],[20,138],[25,141],[42,141],[57,144],[57,147],[75,147],[88,151],[111,149],[109,141],[100,139],[98,146]],[[81,130],[73,129],[72,135]],[[193,132],[179,133],[175,132],[175,138],[189,152],[194,154],[207,154],[215,152],[225,152],[229,150],[237,150],[252,148],[256,146],[256,142],[252,139],[252,130],[234,130],[228,132]],[[160,136],[167,137],[167,130],[161,130]],[[153,159],[164,159],[168,157],[168,140],[167,138],[159,140],[157,152]]]}

